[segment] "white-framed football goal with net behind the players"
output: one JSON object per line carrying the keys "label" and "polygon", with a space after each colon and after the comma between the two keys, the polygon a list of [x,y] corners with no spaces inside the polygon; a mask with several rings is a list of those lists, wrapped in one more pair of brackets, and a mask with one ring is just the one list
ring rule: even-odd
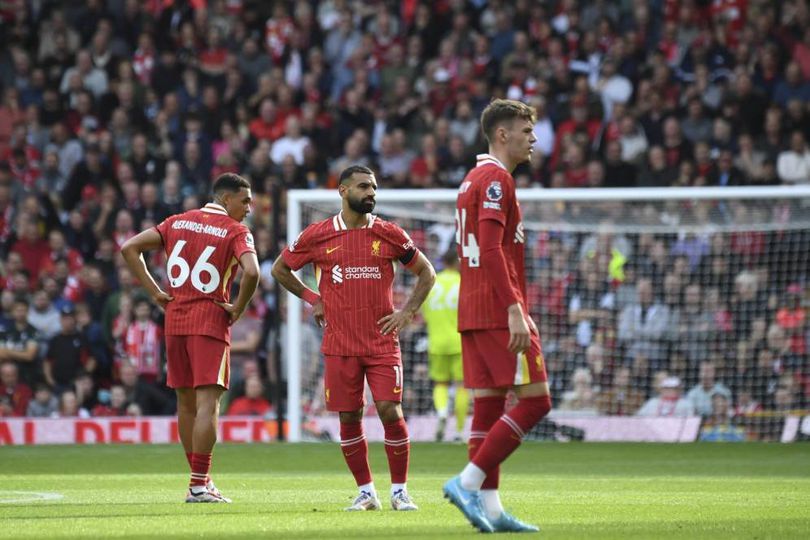
{"label": "white-framed football goal with net behind the players", "polygon": [[[408,231],[439,270],[454,246],[455,199],[382,190],[375,214]],[[784,437],[785,418],[810,396],[810,189],[531,189],[518,199],[552,419],[690,418],[701,439]],[[288,203],[290,241],[340,211],[335,191],[291,191]],[[311,267],[300,275],[317,289]],[[397,305],[413,283],[397,272]],[[285,300],[289,438],[327,438],[320,330],[309,306]],[[409,418],[434,416],[427,340],[420,318],[400,334]],[[559,437],[553,425],[541,431]],[[417,425],[411,436],[433,433]]]}

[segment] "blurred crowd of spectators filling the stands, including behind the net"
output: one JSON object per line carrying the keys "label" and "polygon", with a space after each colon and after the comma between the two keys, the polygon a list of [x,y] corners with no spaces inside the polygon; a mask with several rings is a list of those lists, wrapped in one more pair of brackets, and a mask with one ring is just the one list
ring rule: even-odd
{"label": "blurred crowd of spectators filling the stands, including behind the net", "polygon": [[[254,186],[265,274],[234,395],[261,414],[284,190],[349,164],[457,186],[493,96],[538,113],[521,186],[810,183],[805,0],[16,0],[0,19],[0,415],[173,412],[160,313],[118,251],[222,172]],[[808,405],[806,260],[766,256],[802,234],[530,239],[557,406]]]}

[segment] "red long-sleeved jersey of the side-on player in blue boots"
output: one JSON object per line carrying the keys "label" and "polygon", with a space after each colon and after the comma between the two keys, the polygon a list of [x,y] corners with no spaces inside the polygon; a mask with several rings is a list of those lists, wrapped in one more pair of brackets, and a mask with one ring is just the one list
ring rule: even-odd
{"label": "red long-sleeved jersey of the side-on player in blue boots", "polygon": [[[504,226],[502,247],[508,276],[487,275],[481,268],[478,224],[485,219],[494,219]],[[456,200],[456,243],[461,263],[459,331],[509,327],[508,306],[499,299],[496,287],[512,287],[523,305],[523,312],[529,312],[525,241],[515,180],[495,157],[480,154],[475,168],[459,186]]]}

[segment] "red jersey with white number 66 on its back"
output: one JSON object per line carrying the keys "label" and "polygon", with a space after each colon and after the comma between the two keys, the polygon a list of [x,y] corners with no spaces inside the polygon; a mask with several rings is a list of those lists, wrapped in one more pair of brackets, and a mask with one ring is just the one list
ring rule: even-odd
{"label": "red jersey with white number 66 on its back", "polygon": [[214,203],[167,218],[156,226],[168,257],[167,336],[202,335],[230,343],[228,313],[214,301],[230,302],[239,258],[255,253],[247,226]]}

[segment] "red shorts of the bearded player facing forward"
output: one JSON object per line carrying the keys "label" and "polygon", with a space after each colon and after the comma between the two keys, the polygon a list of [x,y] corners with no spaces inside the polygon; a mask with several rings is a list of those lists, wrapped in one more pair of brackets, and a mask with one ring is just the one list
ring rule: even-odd
{"label": "red shorts of the bearded player facing forward", "polygon": [[402,401],[402,358],[399,353],[383,356],[324,355],[324,398],[326,410],[349,412],[365,404],[368,381],[374,401]]}

